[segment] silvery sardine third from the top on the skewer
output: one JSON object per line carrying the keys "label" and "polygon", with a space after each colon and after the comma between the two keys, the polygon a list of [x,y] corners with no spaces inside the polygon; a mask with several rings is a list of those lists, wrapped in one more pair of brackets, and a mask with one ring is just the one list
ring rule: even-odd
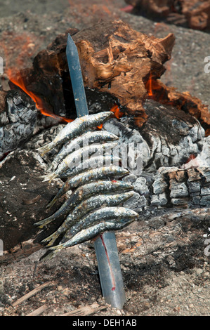
{"label": "silvery sardine third from the top on the skewer", "polygon": [[44,181],[53,180],[54,178],[58,178],[63,172],[67,171],[67,169],[76,169],[79,165],[84,167],[84,170],[87,169],[84,166],[82,160],[86,160],[88,157],[93,154],[103,155],[104,152],[109,152],[112,148],[116,147],[117,143],[103,143],[103,144],[93,144],[87,145],[86,147],[81,147],[79,150],[76,150],[69,154],[65,159],[63,159],[62,163],[58,165],[58,169],[53,173],[49,173],[44,176]]}

